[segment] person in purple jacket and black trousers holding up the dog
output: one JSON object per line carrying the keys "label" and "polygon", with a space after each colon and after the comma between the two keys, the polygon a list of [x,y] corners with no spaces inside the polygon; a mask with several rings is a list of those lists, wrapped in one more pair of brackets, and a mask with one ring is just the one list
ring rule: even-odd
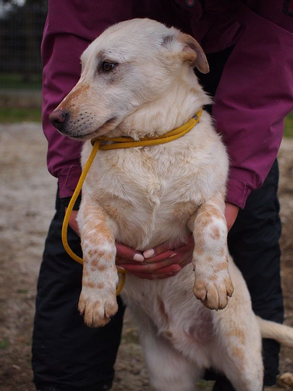
{"label": "person in purple jacket and black trousers holding up the dog", "polygon": [[[289,1],[49,1],[42,41],[43,128],[48,168],[59,189],[38,282],[32,348],[38,390],[107,390],[114,376],[124,307],[120,302],[112,321],[99,329],[87,328],[78,314],[82,268],[65,253],[61,227],[81,172],[81,145],[61,136],[48,115],[79,79],[79,57],[88,43],[122,20],[147,17],[174,25],[208,53],[210,72],[198,76],[215,97],[212,113],[230,154],[230,252],[247,281],[254,312],[283,321],[275,157],[283,118],[293,108],[293,52],[287,49],[293,43],[292,16]],[[81,255],[75,215],[69,243]],[[172,250],[163,243],[143,256],[117,243],[117,264],[139,278],[168,278],[191,260],[192,248],[192,240]],[[264,382],[271,385],[279,346],[266,340],[263,349]],[[233,388],[218,377],[214,390]]]}

